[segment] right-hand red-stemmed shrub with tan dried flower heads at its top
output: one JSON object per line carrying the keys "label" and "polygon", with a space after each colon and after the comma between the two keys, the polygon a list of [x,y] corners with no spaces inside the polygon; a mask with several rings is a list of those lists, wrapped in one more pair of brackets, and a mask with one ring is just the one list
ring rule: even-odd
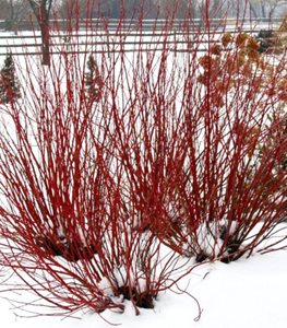
{"label": "right-hand red-stemmed shrub with tan dried flower heads at its top", "polygon": [[113,151],[139,231],[198,261],[227,262],[286,216],[286,55],[260,56],[253,37],[224,33],[199,56],[198,38],[182,57],[167,45],[137,56],[128,96],[118,86],[125,107],[115,102]]}

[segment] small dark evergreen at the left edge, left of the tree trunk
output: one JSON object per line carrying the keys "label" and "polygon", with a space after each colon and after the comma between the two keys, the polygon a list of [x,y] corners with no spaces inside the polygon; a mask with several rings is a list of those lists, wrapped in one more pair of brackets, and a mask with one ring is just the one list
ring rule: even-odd
{"label": "small dark evergreen at the left edge, left of the tree trunk", "polygon": [[12,55],[8,54],[0,71],[0,103],[10,103],[20,96],[20,83],[15,74],[14,61]]}

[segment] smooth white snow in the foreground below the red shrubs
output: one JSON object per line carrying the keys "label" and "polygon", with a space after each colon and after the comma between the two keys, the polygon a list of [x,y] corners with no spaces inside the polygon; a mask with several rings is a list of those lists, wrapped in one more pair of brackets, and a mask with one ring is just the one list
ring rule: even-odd
{"label": "smooth white snow in the foreground below the red shrubs", "polygon": [[[135,316],[131,304],[123,314],[106,311],[103,318],[124,328],[285,328],[287,325],[287,254],[284,250],[254,255],[230,265],[222,262],[198,267],[180,282],[179,289],[160,294],[154,309]],[[196,297],[201,306],[198,316]],[[2,294],[22,301],[20,294]],[[75,318],[23,318],[5,300],[0,300],[1,327],[86,328],[111,327],[97,314],[76,314]]]}

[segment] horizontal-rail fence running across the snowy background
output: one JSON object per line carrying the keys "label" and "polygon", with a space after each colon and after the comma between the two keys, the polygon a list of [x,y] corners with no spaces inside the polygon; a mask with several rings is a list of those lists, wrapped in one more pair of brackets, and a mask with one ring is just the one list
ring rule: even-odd
{"label": "horizontal-rail fence running across the snowy background", "polygon": [[[0,22],[1,23],[1,22]],[[59,22],[58,22],[59,23]],[[70,54],[87,54],[87,52],[119,52],[120,50],[136,51],[144,50],[162,50],[164,46],[168,46],[169,50],[178,52],[190,51],[193,35],[204,34],[202,21],[194,20],[192,25],[184,25],[184,21],[176,20],[171,26],[165,28],[166,22],[163,20],[146,20],[141,23],[141,28],[136,21],[119,22],[109,20],[107,25],[103,25],[103,21],[82,21],[77,33],[69,34],[64,32],[51,31],[50,52],[70,52]],[[211,22],[214,28],[214,40],[219,38],[224,31],[237,33],[237,26],[241,26],[246,33],[258,34],[260,30],[277,28],[280,20],[260,19],[252,21],[238,22],[235,19],[228,19],[225,24],[220,20]],[[0,24],[1,26],[1,24]],[[120,27],[119,27],[120,26]],[[182,27],[183,26],[183,27]],[[88,32],[91,31],[91,32]],[[187,32],[188,31],[188,32]],[[196,37],[192,40],[196,43]],[[196,47],[198,51],[205,51],[205,43],[207,39],[201,39],[201,47]],[[41,36],[39,31],[19,32],[17,35],[9,32],[0,33],[0,56],[7,56],[11,52],[13,56],[23,55],[40,55],[41,54]]]}

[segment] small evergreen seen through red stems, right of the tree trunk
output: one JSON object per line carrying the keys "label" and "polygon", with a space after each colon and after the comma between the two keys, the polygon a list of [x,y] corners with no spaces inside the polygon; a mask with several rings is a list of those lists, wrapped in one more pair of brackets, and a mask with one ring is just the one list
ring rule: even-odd
{"label": "small evergreen seen through red stems, right of the tree trunk", "polygon": [[85,91],[91,102],[98,102],[101,96],[103,79],[97,62],[93,55],[87,60],[87,72],[85,74]]}

